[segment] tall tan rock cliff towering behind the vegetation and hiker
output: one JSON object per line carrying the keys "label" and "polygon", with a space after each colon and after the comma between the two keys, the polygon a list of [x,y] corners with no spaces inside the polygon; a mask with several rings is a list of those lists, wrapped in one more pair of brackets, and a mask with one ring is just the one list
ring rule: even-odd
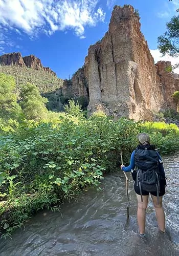
{"label": "tall tan rock cliff towering behind the vegetation and hiker", "polygon": [[77,83],[82,87],[85,78],[90,113],[103,110],[118,117],[150,120],[153,111],[174,106],[171,94],[178,87],[177,75],[167,72],[164,63],[154,65],[139,20],[132,6],[115,6],[108,32],[88,49],[83,78],[74,75],[73,88]]}

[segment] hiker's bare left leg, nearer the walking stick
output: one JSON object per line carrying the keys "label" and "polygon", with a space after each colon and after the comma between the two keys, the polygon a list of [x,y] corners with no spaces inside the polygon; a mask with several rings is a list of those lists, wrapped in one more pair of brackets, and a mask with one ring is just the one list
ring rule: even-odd
{"label": "hiker's bare left leg, nearer the walking stick", "polygon": [[138,200],[138,213],[137,213],[137,218],[138,218],[138,225],[139,225],[139,232],[140,234],[144,234],[145,232],[145,212],[147,209],[147,204],[148,204],[148,196],[142,196],[143,202],[141,201],[141,196],[137,195],[137,200]]}

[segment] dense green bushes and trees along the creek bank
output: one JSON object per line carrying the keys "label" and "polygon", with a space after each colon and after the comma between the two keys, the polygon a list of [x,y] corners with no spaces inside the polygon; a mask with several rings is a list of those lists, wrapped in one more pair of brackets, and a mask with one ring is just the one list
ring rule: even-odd
{"label": "dense green bushes and trees along the creek bank", "polygon": [[[6,86],[5,86],[6,85]],[[48,112],[32,84],[24,85],[17,101],[12,77],[0,75],[0,232],[20,227],[34,212],[59,209],[93,185],[100,189],[104,172],[120,170],[147,132],[161,154],[179,149],[174,124],[114,120],[103,113],[85,118],[70,101],[65,113]]]}

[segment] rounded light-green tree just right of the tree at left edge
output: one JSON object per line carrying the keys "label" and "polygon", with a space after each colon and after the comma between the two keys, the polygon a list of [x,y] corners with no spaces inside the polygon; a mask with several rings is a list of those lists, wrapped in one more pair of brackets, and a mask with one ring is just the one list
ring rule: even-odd
{"label": "rounded light-green tree just right of the tree at left edge", "polygon": [[29,82],[21,87],[20,106],[27,119],[40,120],[47,118],[48,110],[45,103],[48,99],[40,96],[38,88]]}

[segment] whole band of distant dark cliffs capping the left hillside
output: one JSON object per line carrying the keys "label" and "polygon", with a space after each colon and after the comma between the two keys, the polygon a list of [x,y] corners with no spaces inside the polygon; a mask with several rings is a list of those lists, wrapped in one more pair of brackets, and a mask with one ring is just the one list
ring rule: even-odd
{"label": "whole band of distant dark cliffs capping the left hillside", "polygon": [[41,60],[34,55],[22,57],[21,53],[13,52],[0,56],[0,65],[2,66],[17,66],[17,67],[28,67],[34,70],[44,70],[56,76],[49,67],[43,67]]}

